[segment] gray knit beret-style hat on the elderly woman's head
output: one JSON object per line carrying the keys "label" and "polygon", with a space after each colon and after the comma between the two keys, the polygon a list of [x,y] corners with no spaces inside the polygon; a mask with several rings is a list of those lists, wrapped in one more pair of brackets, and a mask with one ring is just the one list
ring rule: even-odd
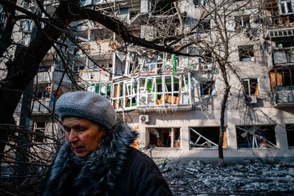
{"label": "gray knit beret-style hat on the elderly woman's head", "polygon": [[56,112],[61,119],[65,116],[76,116],[93,121],[108,130],[116,124],[114,107],[105,97],[94,92],[62,94],[56,102]]}

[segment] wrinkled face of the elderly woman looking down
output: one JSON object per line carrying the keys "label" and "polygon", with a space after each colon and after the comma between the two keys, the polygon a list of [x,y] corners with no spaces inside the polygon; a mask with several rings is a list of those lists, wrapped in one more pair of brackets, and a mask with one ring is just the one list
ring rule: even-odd
{"label": "wrinkled face of the elderly woman looking down", "polygon": [[65,136],[75,156],[85,158],[97,151],[105,129],[87,119],[65,117],[62,121]]}

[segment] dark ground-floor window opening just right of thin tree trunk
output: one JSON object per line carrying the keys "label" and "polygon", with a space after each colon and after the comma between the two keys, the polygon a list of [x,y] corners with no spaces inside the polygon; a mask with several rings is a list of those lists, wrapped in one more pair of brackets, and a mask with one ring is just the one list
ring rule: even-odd
{"label": "dark ground-floor window opening just right of thin tree trunk", "polygon": [[276,148],[274,125],[236,126],[238,148]]}

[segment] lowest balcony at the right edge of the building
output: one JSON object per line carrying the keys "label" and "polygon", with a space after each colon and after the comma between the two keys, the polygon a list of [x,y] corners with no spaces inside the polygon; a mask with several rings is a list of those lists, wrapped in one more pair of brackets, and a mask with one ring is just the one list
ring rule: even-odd
{"label": "lowest balcony at the right edge of the building", "polygon": [[294,86],[275,87],[273,92],[274,107],[294,106]]}

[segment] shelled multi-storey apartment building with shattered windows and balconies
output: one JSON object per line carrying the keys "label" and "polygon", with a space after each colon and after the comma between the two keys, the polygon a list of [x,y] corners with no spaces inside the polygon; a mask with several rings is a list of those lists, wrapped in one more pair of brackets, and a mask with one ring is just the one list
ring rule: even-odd
{"label": "shelled multi-storey apartment building with shattered windows and balconies", "polygon": [[[242,2],[234,1],[234,4]],[[199,19],[212,9],[209,0],[176,3],[97,0],[81,1],[81,4],[104,13],[114,11],[130,33],[146,40],[177,36],[197,23],[200,24],[195,33],[186,41],[213,39],[211,32],[216,26],[209,14]],[[45,9],[53,13],[55,4],[50,1]],[[262,6],[256,3],[248,9],[234,11],[227,23],[227,31],[235,34],[229,40],[232,50],[229,61],[237,67],[240,78],[230,80],[232,93],[225,111],[224,158],[291,159],[294,153],[294,1],[264,1]],[[20,26],[30,31],[30,25],[30,21],[23,20]],[[168,25],[175,26],[174,30],[170,31]],[[126,124],[139,131],[134,146],[152,149],[153,158],[213,160],[218,157],[224,87],[211,50],[196,44],[185,48],[184,52],[192,56],[136,45],[122,50],[121,38],[99,23],[80,21],[72,27],[71,37],[80,46],[60,48],[70,59],[72,75],[62,75],[64,67],[52,49],[34,80],[38,99],[32,106],[34,131],[45,136],[53,126],[58,130],[48,108],[53,109],[61,94],[84,89],[107,97]],[[23,44],[29,43],[29,37],[22,40]],[[185,40],[180,44],[184,43]],[[239,93],[241,86],[245,95]],[[247,99],[243,106],[239,100],[244,96]],[[16,119],[20,109],[16,110]],[[42,141],[41,137],[36,139]]]}

